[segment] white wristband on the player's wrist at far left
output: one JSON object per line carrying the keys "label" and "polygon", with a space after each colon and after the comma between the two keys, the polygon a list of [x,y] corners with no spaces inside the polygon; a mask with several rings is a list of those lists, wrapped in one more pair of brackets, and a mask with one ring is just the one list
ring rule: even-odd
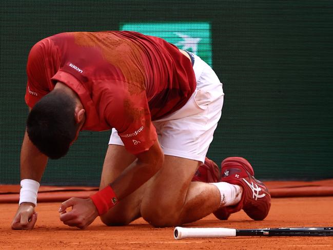
{"label": "white wristband on the player's wrist at far left", "polygon": [[30,202],[37,205],[37,193],[40,188],[40,183],[30,179],[24,179],[21,181],[21,190],[19,191],[19,202],[21,205],[23,202]]}

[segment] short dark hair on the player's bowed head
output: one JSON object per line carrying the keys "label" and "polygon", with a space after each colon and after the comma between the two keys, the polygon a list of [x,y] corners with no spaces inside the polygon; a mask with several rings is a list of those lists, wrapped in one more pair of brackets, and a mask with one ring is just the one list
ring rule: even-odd
{"label": "short dark hair on the player's bowed head", "polygon": [[30,141],[51,159],[65,156],[79,127],[74,111],[75,101],[70,95],[58,90],[45,95],[27,119]]}

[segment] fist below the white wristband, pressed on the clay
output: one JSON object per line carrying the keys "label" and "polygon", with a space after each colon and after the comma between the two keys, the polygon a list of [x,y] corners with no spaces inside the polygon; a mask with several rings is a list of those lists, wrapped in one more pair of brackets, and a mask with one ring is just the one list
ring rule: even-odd
{"label": "fist below the white wristband, pressed on the clay", "polygon": [[32,229],[37,221],[37,213],[34,205],[29,202],[24,202],[18,206],[16,215],[12,221],[12,229]]}

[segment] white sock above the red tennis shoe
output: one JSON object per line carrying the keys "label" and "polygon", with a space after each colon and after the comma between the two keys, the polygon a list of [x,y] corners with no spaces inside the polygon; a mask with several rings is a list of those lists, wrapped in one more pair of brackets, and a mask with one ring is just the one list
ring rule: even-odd
{"label": "white sock above the red tennis shoe", "polygon": [[239,185],[233,185],[227,182],[216,182],[209,183],[217,186],[221,194],[221,203],[222,206],[232,206],[237,205],[241,201],[243,188]]}

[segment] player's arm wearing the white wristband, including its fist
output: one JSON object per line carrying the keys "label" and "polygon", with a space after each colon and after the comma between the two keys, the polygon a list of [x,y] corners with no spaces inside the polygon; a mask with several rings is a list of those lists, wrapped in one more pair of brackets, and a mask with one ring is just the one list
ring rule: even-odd
{"label": "player's arm wearing the white wristband, including its fist", "polygon": [[[30,110],[30,109],[29,109]],[[38,190],[39,182],[47,164],[48,157],[41,153],[30,141],[27,131],[23,139],[21,149],[21,180],[25,180],[24,188],[27,188],[27,193],[24,189],[20,193],[20,205],[18,206],[16,215],[12,221],[12,229],[32,229],[36,220],[37,214],[34,211],[36,197],[22,197],[25,194],[30,194],[31,190]],[[22,184],[22,183],[21,183]]]}

